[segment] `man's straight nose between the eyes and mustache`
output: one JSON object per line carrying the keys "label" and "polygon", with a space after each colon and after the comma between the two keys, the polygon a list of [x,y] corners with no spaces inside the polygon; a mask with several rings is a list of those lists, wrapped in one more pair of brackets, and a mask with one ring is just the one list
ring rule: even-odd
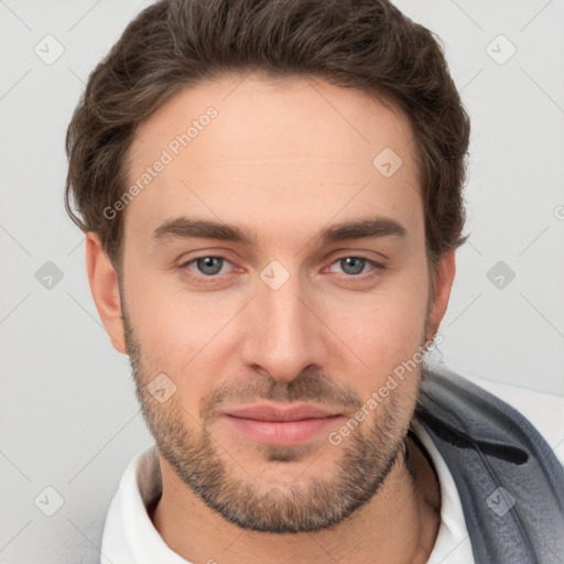
{"label": "man's straight nose between the eyes and mustache", "polygon": [[303,370],[327,361],[327,328],[315,296],[304,294],[299,275],[281,288],[258,281],[258,295],[245,319],[242,361],[275,380],[290,381]]}

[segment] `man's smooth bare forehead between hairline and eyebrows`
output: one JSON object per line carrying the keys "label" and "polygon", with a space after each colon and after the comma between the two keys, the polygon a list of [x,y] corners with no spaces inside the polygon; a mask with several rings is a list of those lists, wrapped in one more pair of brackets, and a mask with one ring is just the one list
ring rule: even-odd
{"label": "man's smooth bare forehead between hairline and eyebrows", "polygon": [[142,237],[181,214],[279,236],[367,208],[413,224],[422,209],[414,147],[399,112],[351,89],[254,74],[206,80],[138,128],[126,234]]}

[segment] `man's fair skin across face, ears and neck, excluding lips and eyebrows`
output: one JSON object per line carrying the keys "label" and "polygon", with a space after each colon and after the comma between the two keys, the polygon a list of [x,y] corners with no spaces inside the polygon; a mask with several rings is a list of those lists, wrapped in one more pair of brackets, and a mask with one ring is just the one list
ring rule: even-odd
{"label": "man's fair skin across face, ears and neck, excluding lips and eyebrows", "polygon": [[[329,554],[341,563],[423,563],[438,531],[438,484],[411,440],[409,459],[403,456],[421,366],[352,436],[337,446],[327,441],[328,431],[354,415],[355,400],[366,402],[434,336],[448,303],[454,251],[441,257],[430,299],[411,129],[389,106],[319,79],[224,76],[182,90],[138,129],[131,181],[209,106],[217,118],[127,206],[121,280],[99,237],[87,236],[96,306],[113,346],[132,358],[143,413],[161,447],[163,495],[151,508],[153,523],[191,562],[308,563]],[[403,161],[390,177],[372,165],[386,148]],[[257,241],[155,242],[154,230],[180,215],[242,226]],[[398,221],[405,236],[315,239],[327,226],[367,216]],[[194,259],[218,256],[227,262],[206,279]],[[380,267],[366,262],[354,275],[340,260],[347,257]],[[260,278],[272,260],[289,274],[276,290]],[[163,372],[176,389],[160,403],[147,386]],[[227,390],[223,400],[218,390]],[[219,415],[249,398],[311,401],[315,393],[323,401],[314,403],[330,404],[340,417],[300,446],[259,445]],[[188,487],[180,471],[185,460],[172,459],[196,456],[206,436],[202,465],[209,469],[215,460],[226,469],[226,484],[237,485],[228,490],[235,506],[260,499],[267,524],[281,522],[281,508],[295,506],[296,491],[311,501],[314,484],[326,485],[334,495],[324,501],[335,505],[338,478],[347,482],[358,466],[346,466],[347,453],[361,445],[376,452],[368,474],[381,475],[381,482],[334,523],[306,530],[296,520],[296,530],[304,529],[294,533],[243,529]]]}

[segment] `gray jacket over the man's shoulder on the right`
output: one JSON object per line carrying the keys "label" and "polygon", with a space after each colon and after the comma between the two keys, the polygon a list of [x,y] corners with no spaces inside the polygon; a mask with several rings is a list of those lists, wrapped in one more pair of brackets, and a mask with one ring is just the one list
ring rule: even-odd
{"label": "gray jacket over the man's shoulder on the right", "polygon": [[424,371],[417,421],[453,474],[476,564],[564,563],[564,470],[518,411],[453,371]]}

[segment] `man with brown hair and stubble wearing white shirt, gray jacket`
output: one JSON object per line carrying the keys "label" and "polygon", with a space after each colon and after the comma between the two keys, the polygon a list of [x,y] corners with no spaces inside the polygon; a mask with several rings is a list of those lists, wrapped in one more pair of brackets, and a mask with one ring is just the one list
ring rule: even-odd
{"label": "man with brown hair and stubble wearing white shirt, gray jacket", "polygon": [[434,37],[384,0],[170,0],[128,26],[67,137],[155,438],[102,562],[563,561],[547,444],[423,370],[468,137]]}

